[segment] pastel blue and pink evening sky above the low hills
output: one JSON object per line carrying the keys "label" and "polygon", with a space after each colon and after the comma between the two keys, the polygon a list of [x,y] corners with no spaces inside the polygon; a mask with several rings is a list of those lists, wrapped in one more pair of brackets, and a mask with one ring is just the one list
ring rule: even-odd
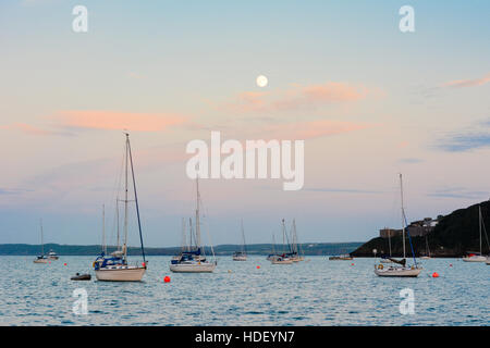
{"label": "pastel blue and pink evening sky above the low hills", "polygon": [[[415,32],[402,33],[402,5]],[[88,11],[75,33],[75,5]],[[364,241],[490,197],[488,1],[0,2],[0,243],[114,240],[123,129],[147,246],[195,209],[186,145],[305,140],[305,183],[201,179],[203,239]],[[266,87],[256,78],[265,75]],[[132,210],[130,245],[138,245]]]}

